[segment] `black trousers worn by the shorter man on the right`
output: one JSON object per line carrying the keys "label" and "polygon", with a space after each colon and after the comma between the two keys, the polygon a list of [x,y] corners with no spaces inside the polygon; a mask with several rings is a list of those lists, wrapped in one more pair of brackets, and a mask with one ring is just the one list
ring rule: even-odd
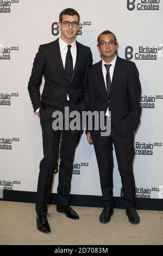
{"label": "black trousers worn by the shorter man on the right", "polygon": [[135,207],[134,132],[132,131],[128,136],[123,137],[112,127],[110,136],[102,137],[101,132],[98,132],[97,135],[93,135],[92,132],[91,137],[97,157],[104,206],[114,207],[115,205],[112,176],[114,167],[112,144],[114,143],[122,181],[124,204],[126,208]]}

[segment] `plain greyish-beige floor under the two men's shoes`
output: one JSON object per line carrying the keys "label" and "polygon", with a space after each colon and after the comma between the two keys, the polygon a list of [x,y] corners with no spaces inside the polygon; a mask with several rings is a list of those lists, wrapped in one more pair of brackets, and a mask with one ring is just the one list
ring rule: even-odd
{"label": "plain greyish-beige floor under the two men's shoes", "polygon": [[52,232],[36,229],[35,205],[0,201],[0,245],[163,245],[163,212],[139,210],[141,222],[129,223],[124,210],[115,209],[108,224],[98,221],[101,208],[73,206],[80,216],[71,220],[51,205]]}

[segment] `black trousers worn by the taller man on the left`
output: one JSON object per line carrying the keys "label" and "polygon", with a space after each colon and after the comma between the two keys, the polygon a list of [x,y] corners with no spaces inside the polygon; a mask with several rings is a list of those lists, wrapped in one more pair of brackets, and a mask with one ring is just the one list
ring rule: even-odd
{"label": "black trousers worn by the taller man on the left", "polygon": [[[64,106],[70,107],[70,112],[73,110],[70,102],[66,102]],[[64,111],[64,107],[61,111]],[[36,213],[38,216],[47,214],[47,204],[51,203],[53,174],[58,167],[59,157],[58,203],[61,205],[69,204],[74,154],[82,134],[82,131],[77,130],[54,131],[52,128],[53,121],[54,118],[40,119],[44,156],[40,162],[36,194]]]}

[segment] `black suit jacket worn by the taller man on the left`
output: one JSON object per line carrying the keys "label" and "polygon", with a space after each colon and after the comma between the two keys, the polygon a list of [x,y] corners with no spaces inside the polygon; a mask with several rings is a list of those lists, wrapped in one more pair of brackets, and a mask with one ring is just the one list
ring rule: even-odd
{"label": "black suit jacket worn by the taller man on the left", "polygon": [[[49,109],[60,110],[67,99],[67,94],[74,110],[87,109],[87,74],[92,65],[92,53],[89,47],[79,42],[76,44],[76,65],[70,83],[67,82],[62,64],[59,39],[40,45],[28,83],[34,111],[39,107],[41,113]],[[45,84],[40,98],[42,75],[45,78]]]}

